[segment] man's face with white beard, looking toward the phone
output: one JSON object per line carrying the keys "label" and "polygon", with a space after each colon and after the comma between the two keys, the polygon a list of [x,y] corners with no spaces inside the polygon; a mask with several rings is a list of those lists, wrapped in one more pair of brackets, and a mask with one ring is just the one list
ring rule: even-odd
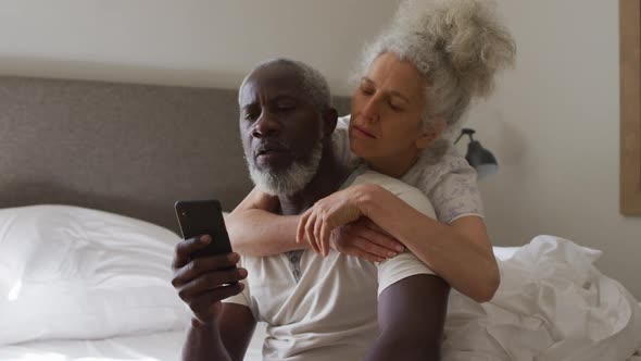
{"label": "man's face with white beard, looking toward the phone", "polygon": [[316,173],[323,119],[285,65],[254,71],[240,92],[240,136],[252,180],[272,195],[292,195]]}

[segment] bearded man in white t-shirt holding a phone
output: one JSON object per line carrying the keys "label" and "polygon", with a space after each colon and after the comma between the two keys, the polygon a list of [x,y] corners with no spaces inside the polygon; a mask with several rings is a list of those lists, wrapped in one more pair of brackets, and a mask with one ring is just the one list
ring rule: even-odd
{"label": "bearded man in white t-shirt holding a phone", "polygon": [[[250,175],[277,196],[274,212],[300,214],[349,185],[378,184],[433,216],[417,189],[341,165],[331,145],[337,112],[310,66],[285,59],[259,65],[240,87],[239,105]],[[449,286],[412,253],[380,263],[311,250],[190,260],[209,241],[185,240],[174,257],[173,284],[194,315],[184,360],[242,360],[256,322],[267,324],[265,360],[439,358]]]}

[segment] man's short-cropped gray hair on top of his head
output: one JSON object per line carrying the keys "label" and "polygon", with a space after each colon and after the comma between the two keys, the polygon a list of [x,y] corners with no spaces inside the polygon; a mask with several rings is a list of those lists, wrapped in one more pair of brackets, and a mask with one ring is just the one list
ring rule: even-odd
{"label": "man's short-cropped gray hair on top of his head", "polygon": [[303,91],[306,92],[306,95],[311,98],[314,105],[316,105],[319,111],[326,111],[327,109],[329,109],[331,107],[331,96],[329,92],[329,85],[327,84],[327,80],[325,79],[323,74],[320,74],[320,72],[318,72],[317,70],[313,69],[312,66],[310,66],[301,61],[286,59],[286,58],[276,58],[276,59],[265,60],[265,61],[261,62],[259,65],[256,65],[251,72],[249,72],[249,74],[244,77],[244,79],[242,79],[242,83],[240,84],[240,87],[238,88],[238,103],[239,104],[240,104],[240,92],[242,91],[242,87],[244,87],[244,84],[247,83],[247,79],[249,78],[249,76],[260,69],[276,66],[276,65],[288,66],[293,72],[296,72],[298,76],[300,76],[301,80],[303,82],[303,84],[302,84]]}

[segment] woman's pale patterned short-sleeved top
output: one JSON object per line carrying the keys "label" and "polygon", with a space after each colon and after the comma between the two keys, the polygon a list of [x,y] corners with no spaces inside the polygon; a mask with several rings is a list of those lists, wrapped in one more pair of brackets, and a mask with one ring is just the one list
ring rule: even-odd
{"label": "woman's pale patterned short-sleeved top", "polygon": [[[337,157],[345,164],[357,162],[350,151],[349,124],[349,115],[339,117],[332,139]],[[443,154],[424,150],[401,180],[420,189],[431,201],[437,219],[449,224],[465,215],[482,217],[476,178],[475,169],[454,147],[449,147]]]}

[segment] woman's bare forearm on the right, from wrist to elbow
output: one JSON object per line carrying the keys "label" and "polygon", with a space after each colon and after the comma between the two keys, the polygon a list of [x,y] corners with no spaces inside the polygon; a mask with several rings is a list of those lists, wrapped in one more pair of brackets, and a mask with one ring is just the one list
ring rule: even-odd
{"label": "woman's bare forearm on the right, from wrist to elbow", "polygon": [[500,276],[489,240],[483,247],[388,190],[376,186],[362,200],[366,216],[403,242],[454,289],[479,302],[492,298]]}

